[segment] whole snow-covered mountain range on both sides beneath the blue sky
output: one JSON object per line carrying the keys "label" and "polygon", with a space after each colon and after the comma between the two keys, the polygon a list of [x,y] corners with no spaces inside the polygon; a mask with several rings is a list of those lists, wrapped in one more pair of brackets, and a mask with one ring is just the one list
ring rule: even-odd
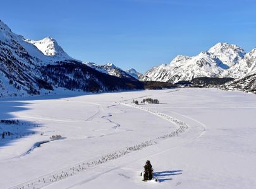
{"label": "whole snow-covered mountain range on both sides beneath the blue sky", "polygon": [[[226,89],[255,92],[256,49],[246,53],[237,45],[217,43],[194,57],[178,55],[169,64],[140,74],[112,63],[73,59],[54,38],[30,40],[16,35],[0,20],[0,97],[47,94],[57,88],[88,92],[143,89],[145,81],[177,83],[198,81],[197,77],[232,77],[235,81],[222,80],[229,81]],[[159,84],[154,83],[154,88],[161,87]]]}

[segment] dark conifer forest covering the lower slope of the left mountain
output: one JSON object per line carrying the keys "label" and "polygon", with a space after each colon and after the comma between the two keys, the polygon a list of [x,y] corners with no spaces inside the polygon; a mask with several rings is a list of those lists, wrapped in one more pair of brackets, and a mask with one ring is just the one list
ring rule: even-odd
{"label": "dark conifer forest covering the lower slope of the left mountain", "polygon": [[70,90],[102,92],[143,89],[140,81],[110,76],[76,61],[47,65],[41,67],[40,71],[47,83]]}

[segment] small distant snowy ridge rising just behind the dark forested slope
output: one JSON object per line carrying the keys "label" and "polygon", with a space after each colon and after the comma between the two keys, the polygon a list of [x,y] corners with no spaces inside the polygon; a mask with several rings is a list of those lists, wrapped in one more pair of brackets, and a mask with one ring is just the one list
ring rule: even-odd
{"label": "small distant snowy ridge rising just behind the dark forested slope", "polygon": [[111,76],[116,76],[120,78],[127,78],[131,80],[135,80],[133,76],[123,71],[121,68],[114,66],[113,63],[107,63],[104,65],[95,64],[93,62],[83,62],[83,64],[92,67],[93,69],[102,72],[104,74],[109,74]]}

